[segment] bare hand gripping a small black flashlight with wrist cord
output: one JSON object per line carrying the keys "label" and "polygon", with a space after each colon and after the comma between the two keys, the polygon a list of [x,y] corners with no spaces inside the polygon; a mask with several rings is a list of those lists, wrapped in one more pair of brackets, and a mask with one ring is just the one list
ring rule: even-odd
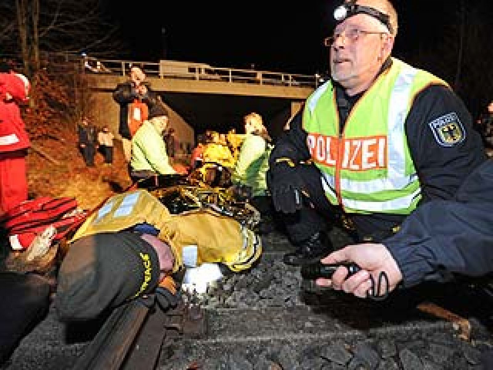
{"label": "bare hand gripping a small black flashlight with wrist cord", "polygon": [[399,266],[383,244],[348,245],[321,259],[321,262],[325,264],[354,262],[361,267],[361,271],[348,279],[346,279],[348,275],[346,267],[339,267],[330,280],[317,279],[317,285],[331,286],[335,290],[344,290],[360,298],[366,297],[366,292],[372,289],[370,276],[373,277],[375,284],[378,284],[379,275],[384,271],[388,278],[388,292],[394,290],[402,280]]}

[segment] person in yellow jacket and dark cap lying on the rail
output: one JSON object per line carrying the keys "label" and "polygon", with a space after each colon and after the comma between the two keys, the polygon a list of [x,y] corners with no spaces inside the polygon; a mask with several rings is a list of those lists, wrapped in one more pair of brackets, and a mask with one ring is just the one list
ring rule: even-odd
{"label": "person in yellow jacket and dark cap lying on the rail", "polygon": [[95,319],[142,296],[167,310],[177,304],[176,273],[204,263],[249,268],[261,239],[210,209],[173,215],[145,189],[114,195],[68,241],[55,308],[63,321]]}

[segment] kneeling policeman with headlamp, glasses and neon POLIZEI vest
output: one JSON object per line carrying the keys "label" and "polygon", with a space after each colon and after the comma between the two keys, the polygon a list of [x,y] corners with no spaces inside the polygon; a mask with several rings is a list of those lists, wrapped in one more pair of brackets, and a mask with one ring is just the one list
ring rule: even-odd
{"label": "kneeling policeman with headlamp, glasses and neon POLIZEI vest", "polygon": [[331,78],[270,157],[274,205],[296,247],[284,256],[291,265],[332,250],[327,221],[337,215],[351,222],[356,240],[379,242],[422,203],[450,199],[486,160],[450,86],[391,57],[398,24],[388,0],[346,1],[334,17],[324,41]]}

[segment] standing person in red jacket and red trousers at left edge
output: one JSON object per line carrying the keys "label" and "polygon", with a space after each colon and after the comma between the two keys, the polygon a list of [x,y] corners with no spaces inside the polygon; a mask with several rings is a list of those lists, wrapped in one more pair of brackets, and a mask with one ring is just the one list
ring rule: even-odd
{"label": "standing person in red jacket and red trousers at left edge", "polygon": [[19,105],[30,83],[18,73],[0,73],[0,215],[27,200],[26,155],[29,136]]}

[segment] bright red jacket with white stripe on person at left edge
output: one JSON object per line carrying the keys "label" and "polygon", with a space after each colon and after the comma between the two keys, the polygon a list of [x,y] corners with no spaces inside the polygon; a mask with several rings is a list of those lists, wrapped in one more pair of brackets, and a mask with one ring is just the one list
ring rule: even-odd
{"label": "bright red jacket with white stripe on person at left edge", "polygon": [[[19,103],[27,101],[26,85],[12,73],[0,73],[0,152],[30,147]],[[9,99],[7,93],[12,97]]]}

